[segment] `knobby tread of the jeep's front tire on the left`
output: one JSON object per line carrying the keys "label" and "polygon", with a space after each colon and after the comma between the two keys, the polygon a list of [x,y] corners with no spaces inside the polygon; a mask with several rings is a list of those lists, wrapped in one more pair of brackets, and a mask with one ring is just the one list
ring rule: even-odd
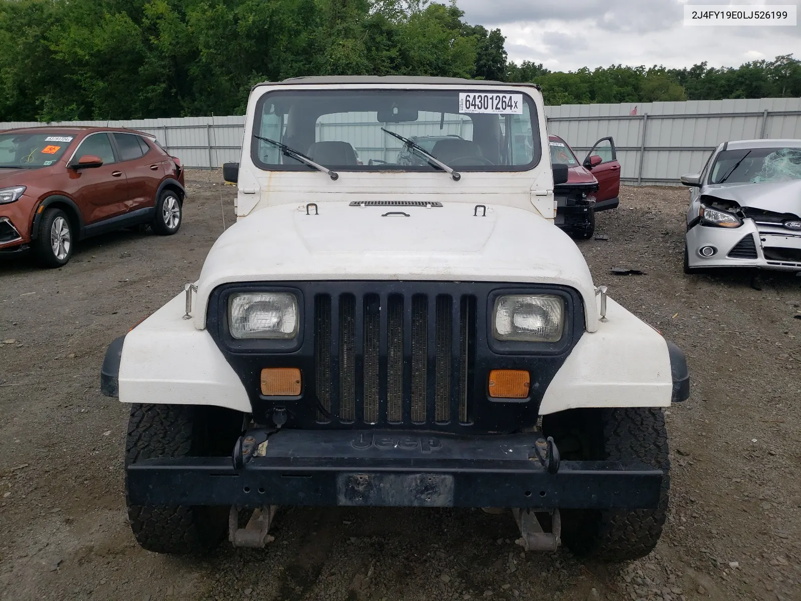
{"label": "knobby tread of the jeep's front tire on the left", "polygon": [[[132,405],[125,463],[192,455],[198,443],[191,405]],[[216,547],[227,522],[219,508],[135,506],[128,503],[131,530],[144,549],[175,555],[203,555]]]}

